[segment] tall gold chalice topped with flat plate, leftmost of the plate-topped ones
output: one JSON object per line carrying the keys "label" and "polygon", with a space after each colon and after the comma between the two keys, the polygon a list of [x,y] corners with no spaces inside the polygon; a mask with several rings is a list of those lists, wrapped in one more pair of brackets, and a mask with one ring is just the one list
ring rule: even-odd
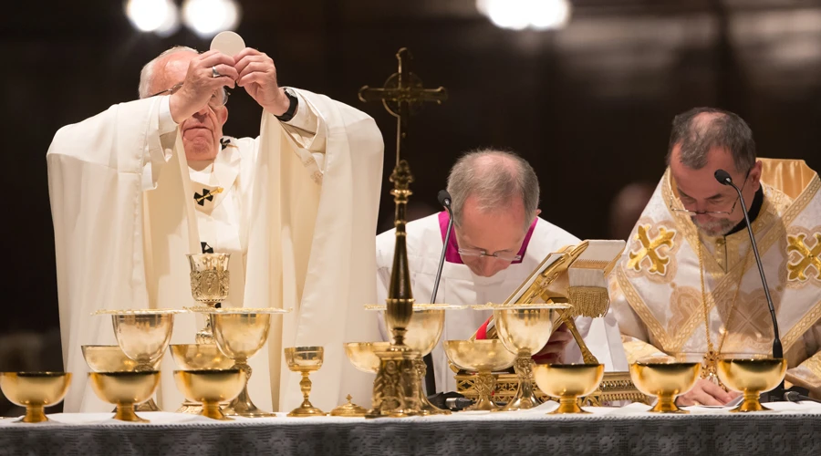
{"label": "tall gold chalice topped with flat plate, leftmost of the plate-topped ones", "polygon": [[[182,309],[101,309],[94,315],[110,315],[114,337],[122,352],[137,363],[135,372],[149,372],[159,365],[171,341],[174,316]],[[150,399],[139,411],[161,411]]]}

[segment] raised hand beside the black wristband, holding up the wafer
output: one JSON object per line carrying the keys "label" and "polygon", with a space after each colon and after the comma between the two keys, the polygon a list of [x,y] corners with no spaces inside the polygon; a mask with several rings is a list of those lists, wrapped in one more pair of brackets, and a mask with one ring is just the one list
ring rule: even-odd
{"label": "raised hand beside the black wristband, holding up the wafer", "polygon": [[290,106],[290,100],[276,82],[274,60],[252,47],[245,47],[234,56],[239,76],[236,84],[266,111],[281,116]]}

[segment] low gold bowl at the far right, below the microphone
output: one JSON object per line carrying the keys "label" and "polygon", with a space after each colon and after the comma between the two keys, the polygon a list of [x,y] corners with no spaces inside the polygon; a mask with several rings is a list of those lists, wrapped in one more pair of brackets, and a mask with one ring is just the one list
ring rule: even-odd
{"label": "low gold bowl at the far right, below the microphone", "polygon": [[[736,358],[744,357],[744,358]],[[786,359],[751,355],[726,355],[717,366],[718,378],[728,389],[743,393],[744,400],[731,412],[769,410],[759,396],[777,387],[786,374]]]}

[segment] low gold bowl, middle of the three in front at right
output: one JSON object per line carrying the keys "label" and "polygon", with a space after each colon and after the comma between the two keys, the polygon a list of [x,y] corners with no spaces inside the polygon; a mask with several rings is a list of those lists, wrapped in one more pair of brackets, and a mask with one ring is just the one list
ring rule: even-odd
{"label": "low gold bowl, middle of the three in front at right", "polygon": [[676,398],[695,386],[700,373],[700,362],[672,362],[661,358],[642,360],[630,365],[630,378],[636,389],[659,398],[649,410],[658,413],[689,413],[679,409]]}

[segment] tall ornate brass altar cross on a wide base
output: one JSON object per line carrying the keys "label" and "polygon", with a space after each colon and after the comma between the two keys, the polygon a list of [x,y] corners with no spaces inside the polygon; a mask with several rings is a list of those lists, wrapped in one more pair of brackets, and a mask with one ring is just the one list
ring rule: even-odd
{"label": "tall ornate brass altar cross on a wide base", "polygon": [[380,365],[373,387],[371,416],[409,416],[417,414],[420,404],[420,387],[415,377],[413,361],[419,354],[404,343],[405,332],[413,315],[411,272],[408,268],[408,252],[405,244],[405,223],[408,200],[411,196],[413,175],[408,161],[402,160],[402,144],[408,139],[411,115],[421,110],[423,103],[448,98],[445,88],[424,88],[421,79],[408,69],[411,51],[406,47],[396,53],[399,70],[390,75],[382,88],[365,86],[359,89],[359,99],[364,102],[381,101],[390,115],[396,118],[396,166],[390,174],[393,182],[393,201],[396,203],[394,225],[396,244],[393,251],[393,267],[390,271],[386,323],[393,335],[390,348],[380,353]]}

